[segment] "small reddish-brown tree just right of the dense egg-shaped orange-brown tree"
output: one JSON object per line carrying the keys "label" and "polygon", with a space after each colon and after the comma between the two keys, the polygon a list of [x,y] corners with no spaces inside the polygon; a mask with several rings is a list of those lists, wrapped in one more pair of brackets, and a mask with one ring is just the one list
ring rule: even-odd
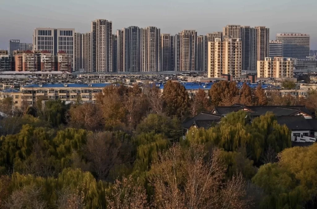
{"label": "small reddish-brown tree just right of the dense egg-shaped orange-brown tree", "polygon": [[198,89],[193,99],[191,100],[191,116],[196,116],[202,111],[210,110],[209,99],[206,96],[204,89]]}

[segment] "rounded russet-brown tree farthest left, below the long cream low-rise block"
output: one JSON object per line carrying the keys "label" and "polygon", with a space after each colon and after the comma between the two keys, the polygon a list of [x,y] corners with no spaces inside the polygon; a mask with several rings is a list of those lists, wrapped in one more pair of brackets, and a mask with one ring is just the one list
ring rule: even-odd
{"label": "rounded russet-brown tree farthest left, below the long cream low-rise block", "polygon": [[73,104],[68,110],[68,123],[77,128],[87,130],[100,129],[102,116],[100,115],[97,105],[85,102],[83,104]]}

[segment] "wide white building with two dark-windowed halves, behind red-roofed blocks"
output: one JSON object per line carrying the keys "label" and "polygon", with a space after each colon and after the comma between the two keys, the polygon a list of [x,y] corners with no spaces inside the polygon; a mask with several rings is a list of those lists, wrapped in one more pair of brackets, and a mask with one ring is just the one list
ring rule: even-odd
{"label": "wide white building with two dark-windowed halves, behind red-roofed blocks", "polygon": [[58,51],[64,51],[71,57],[74,70],[74,28],[35,28],[33,31],[33,50],[49,51],[56,56]]}

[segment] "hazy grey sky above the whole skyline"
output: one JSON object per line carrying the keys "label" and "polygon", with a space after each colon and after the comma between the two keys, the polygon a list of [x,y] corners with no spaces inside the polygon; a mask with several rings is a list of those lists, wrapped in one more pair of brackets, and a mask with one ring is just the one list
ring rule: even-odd
{"label": "hazy grey sky above the whole skyline", "polygon": [[308,33],[317,50],[316,0],[0,0],[0,48],[9,39],[32,43],[36,27],[89,32],[91,21],[113,22],[113,32],[128,26],[156,26],[161,33],[195,29],[198,35],[225,25],[267,26],[276,33]]}

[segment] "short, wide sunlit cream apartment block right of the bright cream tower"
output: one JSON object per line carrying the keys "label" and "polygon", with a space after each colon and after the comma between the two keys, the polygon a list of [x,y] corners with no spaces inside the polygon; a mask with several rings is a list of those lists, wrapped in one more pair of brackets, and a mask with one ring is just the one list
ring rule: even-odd
{"label": "short, wide sunlit cream apartment block right of the bright cream tower", "polygon": [[292,58],[265,57],[257,62],[258,78],[293,78]]}

